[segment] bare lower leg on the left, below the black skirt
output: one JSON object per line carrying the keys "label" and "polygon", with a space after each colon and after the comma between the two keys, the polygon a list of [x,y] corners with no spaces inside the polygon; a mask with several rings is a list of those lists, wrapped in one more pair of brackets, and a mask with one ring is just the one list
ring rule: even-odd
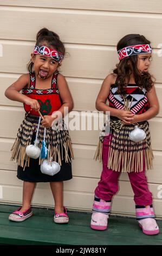
{"label": "bare lower leg on the left, below the black skirt", "polygon": [[30,208],[31,199],[33,197],[35,182],[24,181],[23,183],[23,204],[21,211],[25,211]]}

